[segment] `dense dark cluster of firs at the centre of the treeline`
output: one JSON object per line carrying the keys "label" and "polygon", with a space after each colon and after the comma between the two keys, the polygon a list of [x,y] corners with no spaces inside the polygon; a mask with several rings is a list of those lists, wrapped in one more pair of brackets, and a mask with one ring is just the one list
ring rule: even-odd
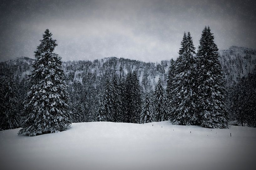
{"label": "dense dark cluster of firs at the centre of the treeline", "polygon": [[106,79],[99,95],[97,121],[139,123],[141,92],[137,72],[128,73],[126,80],[117,75]]}

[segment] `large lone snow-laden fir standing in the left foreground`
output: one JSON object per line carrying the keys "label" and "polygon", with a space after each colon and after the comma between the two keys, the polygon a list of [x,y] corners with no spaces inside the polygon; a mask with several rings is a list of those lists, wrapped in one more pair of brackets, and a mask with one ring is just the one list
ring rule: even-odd
{"label": "large lone snow-laden fir standing in the left foreground", "polygon": [[48,29],[35,51],[29,81],[31,88],[24,101],[25,119],[19,134],[36,136],[66,130],[71,124],[67,85],[63,81],[61,57],[53,53],[57,46]]}

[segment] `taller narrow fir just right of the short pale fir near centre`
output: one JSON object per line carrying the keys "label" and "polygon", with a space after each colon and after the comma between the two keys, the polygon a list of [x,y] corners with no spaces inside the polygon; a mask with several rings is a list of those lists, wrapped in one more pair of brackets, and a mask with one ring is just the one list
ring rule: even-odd
{"label": "taller narrow fir just right of the short pale fir near centre", "polygon": [[159,77],[158,82],[155,86],[154,99],[153,99],[155,121],[157,122],[162,121],[163,100],[164,100],[164,88],[162,86],[161,77]]}

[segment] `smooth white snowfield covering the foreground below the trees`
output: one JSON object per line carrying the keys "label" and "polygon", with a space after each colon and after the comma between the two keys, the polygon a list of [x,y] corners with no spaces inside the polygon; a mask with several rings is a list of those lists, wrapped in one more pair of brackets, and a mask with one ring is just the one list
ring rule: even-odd
{"label": "smooth white snowfield covering the foreground below the trees", "polygon": [[256,167],[256,128],[90,122],[74,123],[64,132],[35,137],[18,136],[18,130],[0,131],[0,169],[248,170]]}

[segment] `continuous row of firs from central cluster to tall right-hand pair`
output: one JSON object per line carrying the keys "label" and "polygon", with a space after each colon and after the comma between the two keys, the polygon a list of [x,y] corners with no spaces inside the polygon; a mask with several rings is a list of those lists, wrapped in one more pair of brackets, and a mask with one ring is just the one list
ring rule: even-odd
{"label": "continuous row of firs from central cluster to tall right-hand pair", "polygon": [[[190,32],[187,35],[184,33],[179,57],[176,61],[170,62],[166,90],[163,89],[159,78],[153,99],[150,99],[149,94],[146,93],[144,104],[141,105],[136,72],[133,73],[132,81],[129,81],[131,73],[128,74],[125,86],[122,87],[125,93],[121,95],[114,85],[115,76],[111,85],[106,81],[104,92],[100,95],[97,120],[131,123],[170,120],[177,125],[227,128],[229,119],[227,90],[217,51],[209,27],[205,27],[202,31],[197,53]],[[129,91],[131,89],[129,86],[136,88]],[[112,96],[119,97],[111,100]],[[124,100],[119,101],[121,98]],[[109,119],[120,111],[121,117],[133,119]]]}

